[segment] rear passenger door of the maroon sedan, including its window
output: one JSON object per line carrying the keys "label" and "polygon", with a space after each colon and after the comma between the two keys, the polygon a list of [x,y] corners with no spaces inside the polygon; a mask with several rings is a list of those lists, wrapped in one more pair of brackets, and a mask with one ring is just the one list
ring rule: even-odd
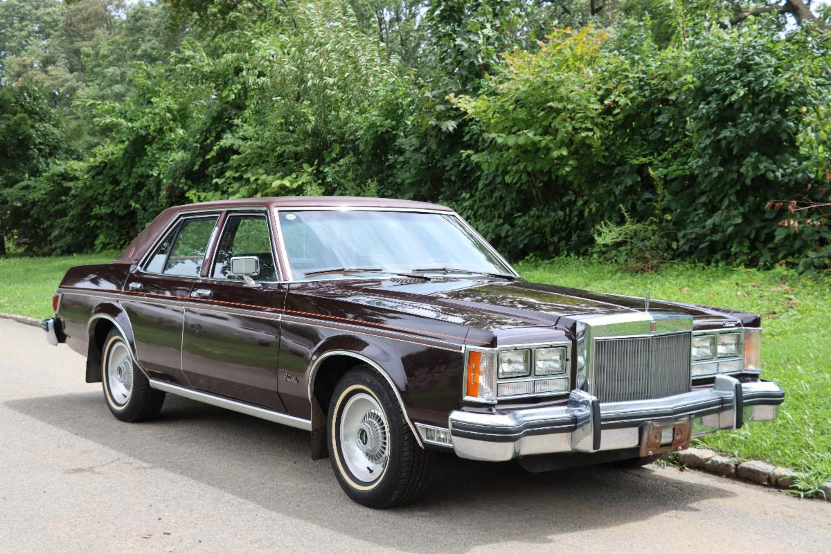
{"label": "rear passenger door of the maroon sedan, including its window", "polygon": [[184,303],[208,252],[219,213],[179,218],[125,283],[135,351],[151,375],[188,385],[182,374]]}

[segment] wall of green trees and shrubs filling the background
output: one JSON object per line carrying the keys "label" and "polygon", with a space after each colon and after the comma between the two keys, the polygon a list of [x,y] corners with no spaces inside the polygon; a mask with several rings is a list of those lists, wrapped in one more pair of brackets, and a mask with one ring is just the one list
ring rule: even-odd
{"label": "wall of green trees and shrubs filling the background", "polygon": [[360,194],[514,258],[625,230],[628,265],[828,266],[827,226],[765,209],[831,189],[831,10],[790,4],[3,0],[3,90],[41,99],[7,119],[48,146],[3,174],[0,233],[117,248],[175,203]]}

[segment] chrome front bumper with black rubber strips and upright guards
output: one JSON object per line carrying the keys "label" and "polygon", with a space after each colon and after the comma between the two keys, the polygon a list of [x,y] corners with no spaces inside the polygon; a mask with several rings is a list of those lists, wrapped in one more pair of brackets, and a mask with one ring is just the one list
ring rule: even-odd
{"label": "chrome front bumper with black rubber strips and upright guards", "polygon": [[770,381],[742,383],[718,375],[713,388],[655,400],[601,404],[573,390],[565,406],[450,414],[453,449],[460,458],[502,462],[534,454],[630,449],[642,424],[692,419],[692,435],[739,429],[776,417],[784,390]]}

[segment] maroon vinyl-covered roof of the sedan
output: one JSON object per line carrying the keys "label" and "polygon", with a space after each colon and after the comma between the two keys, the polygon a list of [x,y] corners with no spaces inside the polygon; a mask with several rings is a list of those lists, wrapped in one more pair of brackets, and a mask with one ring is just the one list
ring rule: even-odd
{"label": "maroon vinyl-covered roof of the sedan", "polygon": [[237,208],[367,208],[390,209],[401,211],[429,210],[453,213],[453,210],[440,204],[417,202],[415,200],[378,199],[362,196],[268,196],[257,199],[216,200],[183,204],[165,209],[150,222],[144,231],[133,239],[130,246],[116,257],[116,263],[138,263],[155,239],[179,216],[179,213],[199,210],[223,210]]}

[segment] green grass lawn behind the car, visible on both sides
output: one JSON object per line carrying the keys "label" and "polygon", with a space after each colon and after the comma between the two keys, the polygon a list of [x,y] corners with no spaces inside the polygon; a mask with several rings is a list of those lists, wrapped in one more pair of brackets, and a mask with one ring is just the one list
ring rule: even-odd
{"label": "green grass lawn behind the car, visible on both sides", "polygon": [[[52,258],[0,258],[0,312],[44,317],[68,267],[110,262],[116,252]],[[779,419],[720,432],[702,444],[737,458],[759,458],[831,478],[831,276],[782,268],[667,265],[654,274],[621,272],[583,258],[521,262],[532,282],[693,302],[762,315],[763,376],[786,390]]]}

